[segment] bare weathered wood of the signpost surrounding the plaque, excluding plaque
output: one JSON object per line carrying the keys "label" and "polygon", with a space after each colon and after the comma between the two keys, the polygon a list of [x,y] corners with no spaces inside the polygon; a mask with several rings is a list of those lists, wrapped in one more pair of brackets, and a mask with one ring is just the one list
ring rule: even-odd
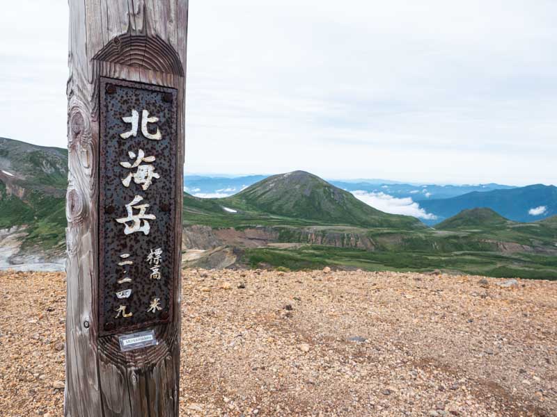
{"label": "bare weathered wood of the signpost surrounding the plaque, excluding plaque", "polygon": [[178,89],[175,239],[181,242],[187,0],[70,0],[65,416],[178,416],[180,244],[173,321],[159,345],[122,353],[98,337],[100,76]]}

